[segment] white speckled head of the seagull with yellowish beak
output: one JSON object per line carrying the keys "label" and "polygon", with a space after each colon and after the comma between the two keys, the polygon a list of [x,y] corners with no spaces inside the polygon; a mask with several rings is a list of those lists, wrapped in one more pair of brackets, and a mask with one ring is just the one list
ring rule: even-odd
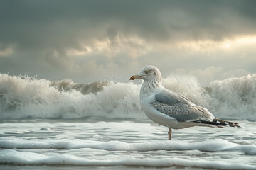
{"label": "white speckled head of the seagull with yellowish beak", "polygon": [[148,65],[143,67],[138,74],[132,76],[130,80],[143,79],[144,81],[158,81],[161,82],[161,72],[155,66]]}

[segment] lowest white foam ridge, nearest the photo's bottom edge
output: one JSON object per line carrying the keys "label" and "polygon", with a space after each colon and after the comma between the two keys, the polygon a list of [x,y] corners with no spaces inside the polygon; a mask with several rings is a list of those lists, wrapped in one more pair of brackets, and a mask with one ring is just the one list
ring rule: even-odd
{"label": "lowest white foam ridge, nearest the photo's bottom edge", "polygon": [[255,169],[248,164],[206,161],[204,159],[86,159],[72,154],[38,154],[6,149],[1,151],[0,164],[23,165],[77,165],[77,166],[146,166],[146,167],[197,167],[208,169]]}

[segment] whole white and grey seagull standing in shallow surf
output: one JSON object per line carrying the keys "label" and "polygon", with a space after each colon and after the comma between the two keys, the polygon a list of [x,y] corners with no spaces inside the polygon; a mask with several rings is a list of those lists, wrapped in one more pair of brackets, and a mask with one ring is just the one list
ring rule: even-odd
{"label": "whole white and grey seagull standing in shallow surf", "polygon": [[161,72],[155,66],[143,67],[139,74],[130,78],[134,79],[144,80],[139,95],[142,111],[155,123],[169,129],[168,140],[171,140],[171,129],[193,126],[240,128],[238,123],[215,118],[206,108],[197,106],[181,94],[164,88]]}

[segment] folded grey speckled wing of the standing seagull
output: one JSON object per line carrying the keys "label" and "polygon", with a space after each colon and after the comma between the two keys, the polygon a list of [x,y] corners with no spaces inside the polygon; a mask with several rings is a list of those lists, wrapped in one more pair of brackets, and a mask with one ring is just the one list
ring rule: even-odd
{"label": "folded grey speckled wing of the standing seagull", "polygon": [[172,91],[164,91],[155,95],[155,101],[151,103],[157,111],[176,118],[179,122],[194,120],[211,121],[213,118],[206,108],[196,106],[187,98]]}

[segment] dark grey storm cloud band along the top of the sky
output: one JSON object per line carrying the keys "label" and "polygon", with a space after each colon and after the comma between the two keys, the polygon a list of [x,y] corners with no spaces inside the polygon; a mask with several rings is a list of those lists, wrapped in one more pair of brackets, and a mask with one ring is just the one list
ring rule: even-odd
{"label": "dark grey storm cloud band along the top of the sky", "polygon": [[79,48],[78,38],[109,33],[106,25],[146,40],[250,34],[255,33],[255,6],[256,1],[246,0],[1,1],[1,44]]}

